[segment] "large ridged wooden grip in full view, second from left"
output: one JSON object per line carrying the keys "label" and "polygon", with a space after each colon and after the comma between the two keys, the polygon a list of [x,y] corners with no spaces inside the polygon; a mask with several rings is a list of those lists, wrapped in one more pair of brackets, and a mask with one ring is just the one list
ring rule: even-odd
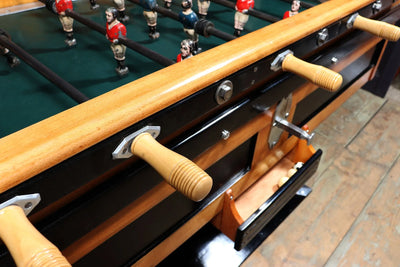
{"label": "large ridged wooden grip in full view, second from left", "polygon": [[206,172],[189,159],[162,146],[149,133],[135,137],[131,151],[191,200],[200,201],[210,192],[213,182]]}

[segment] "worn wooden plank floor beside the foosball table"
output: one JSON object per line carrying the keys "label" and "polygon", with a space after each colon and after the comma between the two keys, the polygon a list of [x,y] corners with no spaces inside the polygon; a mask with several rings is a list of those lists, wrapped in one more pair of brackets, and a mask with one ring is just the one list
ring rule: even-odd
{"label": "worn wooden plank floor beside the foosball table", "polygon": [[242,264],[400,266],[400,77],[359,90],[316,130],[313,192]]}

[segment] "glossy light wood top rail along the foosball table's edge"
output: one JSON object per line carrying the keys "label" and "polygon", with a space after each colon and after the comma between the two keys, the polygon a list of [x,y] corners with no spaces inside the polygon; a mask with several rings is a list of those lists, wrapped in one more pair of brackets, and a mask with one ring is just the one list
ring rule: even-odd
{"label": "glossy light wood top rail along the foosball table's edge", "polygon": [[371,2],[325,2],[2,138],[0,192]]}

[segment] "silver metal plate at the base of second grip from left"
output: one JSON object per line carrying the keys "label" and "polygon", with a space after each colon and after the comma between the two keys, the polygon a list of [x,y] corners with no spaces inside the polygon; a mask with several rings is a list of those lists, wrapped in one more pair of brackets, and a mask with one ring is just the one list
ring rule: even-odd
{"label": "silver metal plate at the base of second grip from left", "polygon": [[133,156],[131,152],[131,145],[133,139],[141,133],[149,133],[153,138],[157,138],[160,134],[161,127],[160,126],[146,126],[142,129],[134,132],[133,134],[125,137],[122,142],[118,145],[118,147],[112,153],[113,159],[127,159]]}

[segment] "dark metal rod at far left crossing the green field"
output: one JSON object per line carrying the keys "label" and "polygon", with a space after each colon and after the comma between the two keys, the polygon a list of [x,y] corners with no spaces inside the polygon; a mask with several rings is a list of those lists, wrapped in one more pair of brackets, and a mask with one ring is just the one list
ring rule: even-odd
{"label": "dark metal rod at far left crossing the green field", "polygon": [[[0,31],[2,31],[2,30],[0,30]],[[43,75],[46,79],[48,79],[49,81],[54,83],[56,86],[58,86],[61,90],[63,90],[68,96],[70,96],[76,102],[82,103],[82,102],[89,100],[89,98],[87,96],[85,96],[82,92],[80,92],[78,89],[76,89],[74,86],[72,86],[67,81],[63,80],[60,76],[58,76],[56,73],[54,73],[51,69],[49,69],[48,67],[43,65],[41,62],[39,62],[34,57],[32,57],[29,53],[27,53],[25,50],[23,50],[17,44],[15,44],[11,40],[9,40],[3,34],[0,34],[0,44],[4,47],[8,48],[11,52],[13,52],[16,56],[18,56],[23,61],[25,61],[25,63],[27,63],[29,66],[31,66],[33,69],[35,69],[41,75]]]}

